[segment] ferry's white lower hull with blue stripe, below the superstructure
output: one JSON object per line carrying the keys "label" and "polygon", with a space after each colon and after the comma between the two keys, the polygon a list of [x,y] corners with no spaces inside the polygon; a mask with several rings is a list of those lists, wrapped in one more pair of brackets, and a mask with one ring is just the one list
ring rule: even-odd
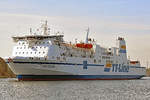
{"label": "ferry's white lower hull with blue stripe, below the superstructure", "polygon": [[145,68],[128,66],[122,70],[115,66],[105,70],[100,64],[56,63],[56,62],[25,62],[14,61],[8,63],[19,80],[124,80],[140,79],[145,76]]}

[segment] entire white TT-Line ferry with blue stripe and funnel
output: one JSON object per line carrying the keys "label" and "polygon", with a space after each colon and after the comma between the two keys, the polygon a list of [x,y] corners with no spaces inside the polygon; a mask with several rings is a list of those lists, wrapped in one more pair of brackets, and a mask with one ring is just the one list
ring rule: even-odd
{"label": "entire white TT-Line ferry with blue stripe and funnel", "polygon": [[35,33],[30,28],[28,35],[12,39],[12,56],[5,60],[19,81],[130,80],[146,73],[140,61],[128,59],[123,37],[117,38],[116,47],[105,48],[89,38],[89,28],[84,42],[67,42],[63,34],[51,34],[47,21]]}

